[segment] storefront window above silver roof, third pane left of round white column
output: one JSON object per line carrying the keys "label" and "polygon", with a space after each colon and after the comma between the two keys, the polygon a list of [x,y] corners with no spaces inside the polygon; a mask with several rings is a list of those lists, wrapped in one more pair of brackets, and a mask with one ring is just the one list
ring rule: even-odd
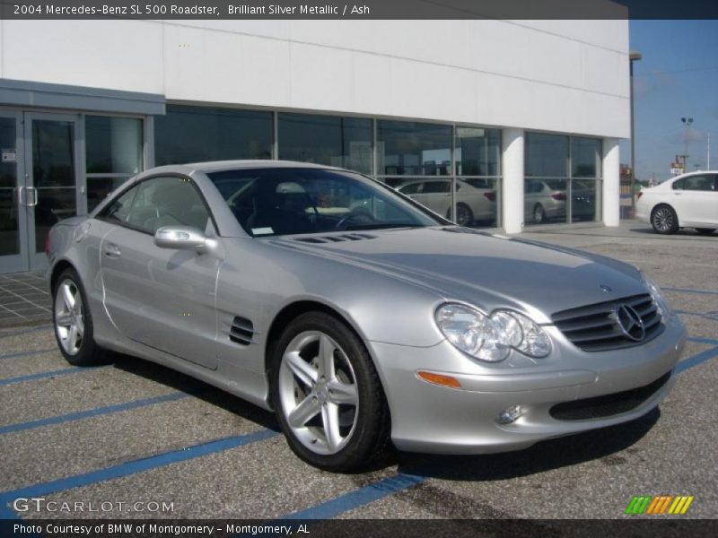
{"label": "storefront window above silver roof, third pane left of round white column", "polygon": [[372,173],[372,120],[280,113],[279,159]]}

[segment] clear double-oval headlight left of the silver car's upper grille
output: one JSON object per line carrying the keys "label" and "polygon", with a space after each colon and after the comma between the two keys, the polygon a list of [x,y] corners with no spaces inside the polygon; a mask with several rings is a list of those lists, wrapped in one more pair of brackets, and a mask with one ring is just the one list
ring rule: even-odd
{"label": "clear double-oval headlight left of the silver car's upper grille", "polygon": [[480,360],[504,360],[512,349],[535,359],[551,352],[551,341],[540,325],[512,310],[486,316],[476,308],[447,303],[436,310],[435,318],[449,342]]}

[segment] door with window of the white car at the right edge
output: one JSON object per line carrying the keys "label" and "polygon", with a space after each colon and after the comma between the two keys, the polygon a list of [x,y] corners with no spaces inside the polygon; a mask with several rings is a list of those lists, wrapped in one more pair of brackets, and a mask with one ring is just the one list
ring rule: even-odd
{"label": "door with window of the white car at the right edge", "polygon": [[671,186],[673,209],[681,226],[718,224],[718,191],[714,174],[699,174],[679,179]]}

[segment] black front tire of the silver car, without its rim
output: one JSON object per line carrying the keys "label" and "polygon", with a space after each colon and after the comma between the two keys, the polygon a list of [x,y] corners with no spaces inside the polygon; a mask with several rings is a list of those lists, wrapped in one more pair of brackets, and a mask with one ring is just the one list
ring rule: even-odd
{"label": "black front tire of the silver car, without its rim", "polygon": [[[349,439],[346,447],[337,454],[318,455],[304,447],[302,442],[294,437],[287,424],[279,398],[279,367],[282,356],[292,339],[305,331],[320,331],[327,334],[346,352],[354,369],[355,383],[359,393],[359,416],[352,438]],[[276,412],[276,419],[279,421],[294,454],[309,464],[332,472],[356,471],[372,464],[384,455],[389,444],[389,412],[386,397],[369,352],[366,351],[362,341],[344,323],[323,312],[303,314],[287,325],[285,332],[274,346],[271,359],[269,372],[271,402]]]}

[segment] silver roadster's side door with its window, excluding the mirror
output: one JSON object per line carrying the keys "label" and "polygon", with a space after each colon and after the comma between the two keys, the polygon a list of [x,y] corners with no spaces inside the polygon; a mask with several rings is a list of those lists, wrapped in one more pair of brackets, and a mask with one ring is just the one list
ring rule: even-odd
{"label": "silver roadster's side door with its window, excluding the mirror", "polygon": [[101,243],[104,304],[118,330],[138,343],[216,369],[215,284],[221,260],[157,247],[162,226],[214,234],[204,197],[189,178],[148,178],[109,204],[115,223]]}

